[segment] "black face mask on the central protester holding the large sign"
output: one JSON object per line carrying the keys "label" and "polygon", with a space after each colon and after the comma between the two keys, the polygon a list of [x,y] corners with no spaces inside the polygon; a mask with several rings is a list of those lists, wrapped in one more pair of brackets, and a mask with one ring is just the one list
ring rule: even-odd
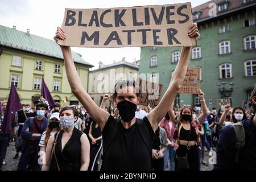
{"label": "black face mask on the central protester holding the large sign", "polygon": [[131,122],[135,117],[136,104],[130,101],[122,101],[117,104],[117,109],[119,110],[119,115],[121,119],[125,122]]}

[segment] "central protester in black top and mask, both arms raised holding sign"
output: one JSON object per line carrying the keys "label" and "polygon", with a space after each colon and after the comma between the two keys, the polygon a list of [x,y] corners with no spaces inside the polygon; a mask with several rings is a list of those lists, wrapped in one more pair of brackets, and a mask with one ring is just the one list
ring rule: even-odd
{"label": "central protester in black top and mask, both arms raised holding sign", "polygon": [[[200,38],[196,23],[191,26],[188,36]],[[64,30],[58,27],[54,37],[55,41],[65,40],[66,37]],[[101,127],[104,148],[101,170],[152,170],[152,138],[159,122],[166,115],[181,88],[191,55],[191,47],[182,48],[180,60],[166,93],[158,106],[143,119],[135,118],[135,111],[141,99],[137,82],[122,80],[115,84],[112,98],[117,102],[120,115],[120,118],[115,119],[104,109],[98,107],[82,88],[79,74],[73,63],[71,48],[60,47],[73,94]]]}

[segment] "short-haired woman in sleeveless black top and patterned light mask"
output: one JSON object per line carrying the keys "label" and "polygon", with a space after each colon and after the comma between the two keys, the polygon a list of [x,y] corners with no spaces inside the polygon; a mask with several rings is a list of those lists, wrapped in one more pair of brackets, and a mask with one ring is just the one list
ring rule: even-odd
{"label": "short-haired woman in sleeveless black top and patterned light mask", "polygon": [[79,113],[75,106],[60,110],[63,130],[52,135],[46,146],[46,163],[42,171],[86,171],[90,160],[90,144],[84,133],[76,129]]}

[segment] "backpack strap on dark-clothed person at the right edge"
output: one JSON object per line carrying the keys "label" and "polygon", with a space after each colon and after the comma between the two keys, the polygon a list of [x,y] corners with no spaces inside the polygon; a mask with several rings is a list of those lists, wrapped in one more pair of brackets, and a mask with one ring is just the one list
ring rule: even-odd
{"label": "backpack strap on dark-clothed person at the right edge", "polygon": [[236,133],[236,151],[234,154],[234,162],[238,163],[240,150],[243,146],[245,146],[245,128],[243,127],[242,122],[234,123],[232,126]]}

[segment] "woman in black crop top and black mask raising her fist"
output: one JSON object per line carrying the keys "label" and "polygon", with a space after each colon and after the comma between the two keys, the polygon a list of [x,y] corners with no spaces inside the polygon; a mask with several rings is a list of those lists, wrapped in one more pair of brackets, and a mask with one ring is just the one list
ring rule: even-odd
{"label": "woman in black crop top and black mask raising her fist", "polygon": [[[199,92],[200,102],[203,112],[197,118],[200,123],[204,123],[207,117],[207,105],[204,100],[204,93]],[[172,104],[173,106],[173,104]],[[175,171],[189,169],[199,171],[199,152],[201,150],[201,139],[197,121],[192,118],[192,108],[184,105],[180,109],[180,117],[176,118],[173,107],[169,110],[172,121],[178,123],[174,138],[177,139],[177,150],[175,158]]]}

